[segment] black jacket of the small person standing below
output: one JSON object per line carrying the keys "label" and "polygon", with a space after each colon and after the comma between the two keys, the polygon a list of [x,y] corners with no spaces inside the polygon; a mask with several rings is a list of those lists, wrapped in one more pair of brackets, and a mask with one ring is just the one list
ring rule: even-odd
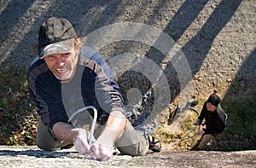
{"label": "black jacket of the small person standing below", "polygon": [[214,112],[207,110],[207,102],[205,102],[201,115],[198,117],[201,121],[205,119],[205,125],[207,129],[203,129],[205,134],[212,134],[213,136],[221,133],[225,129],[225,113],[220,104]]}

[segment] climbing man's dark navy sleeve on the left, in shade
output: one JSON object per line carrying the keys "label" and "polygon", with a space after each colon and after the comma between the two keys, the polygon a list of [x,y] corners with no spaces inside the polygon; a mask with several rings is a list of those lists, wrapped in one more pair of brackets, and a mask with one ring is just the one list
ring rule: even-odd
{"label": "climbing man's dark navy sleeve on the left, in shade", "polygon": [[60,93],[56,91],[58,84],[49,72],[44,61],[38,60],[32,63],[29,68],[27,80],[29,90],[38,107],[38,114],[40,115],[44,125],[49,126],[52,131],[53,125],[57,122],[66,122],[67,115],[65,113]]}

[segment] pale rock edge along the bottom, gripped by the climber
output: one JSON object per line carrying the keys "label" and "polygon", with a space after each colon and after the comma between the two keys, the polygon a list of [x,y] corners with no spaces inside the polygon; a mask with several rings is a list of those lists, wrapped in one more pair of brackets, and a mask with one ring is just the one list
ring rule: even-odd
{"label": "pale rock edge along the bottom, gripped by the climber", "polygon": [[163,151],[140,157],[115,155],[96,161],[73,148],[47,152],[36,147],[0,147],[1,167],[255,167],[256,151]]}

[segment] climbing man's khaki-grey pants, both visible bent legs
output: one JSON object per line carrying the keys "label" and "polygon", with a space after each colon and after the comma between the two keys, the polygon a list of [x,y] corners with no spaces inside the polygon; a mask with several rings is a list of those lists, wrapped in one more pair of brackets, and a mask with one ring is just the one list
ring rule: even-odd
{"label": "climbing man's khaki-grey pants, both visible bent legs", "polygon": [[[50,134],[48,126],[44,125],[40,119],[38,124],[37,145],[38,148],[44,150],[53,150],[56,148],[64,148],[73,142],[55,140]],[[127,120],[125,130],[122,136],[114,143],[122,154],[131,156],[144,155],[148,152],[148,136],[142,132],[134,130],[131,123]]]}

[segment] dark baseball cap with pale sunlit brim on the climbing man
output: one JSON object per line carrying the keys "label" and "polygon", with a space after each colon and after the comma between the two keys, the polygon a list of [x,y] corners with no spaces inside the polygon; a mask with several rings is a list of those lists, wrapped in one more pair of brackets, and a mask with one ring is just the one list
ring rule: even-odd
{"label": "dark baseball cap with pale sunlit brim on the climbing man", "polygon": [[39,57],[68,53],[73,46],[73,38],[77,36],[72,24],[58,17],[50,17],[44,21],[39,30]]}

